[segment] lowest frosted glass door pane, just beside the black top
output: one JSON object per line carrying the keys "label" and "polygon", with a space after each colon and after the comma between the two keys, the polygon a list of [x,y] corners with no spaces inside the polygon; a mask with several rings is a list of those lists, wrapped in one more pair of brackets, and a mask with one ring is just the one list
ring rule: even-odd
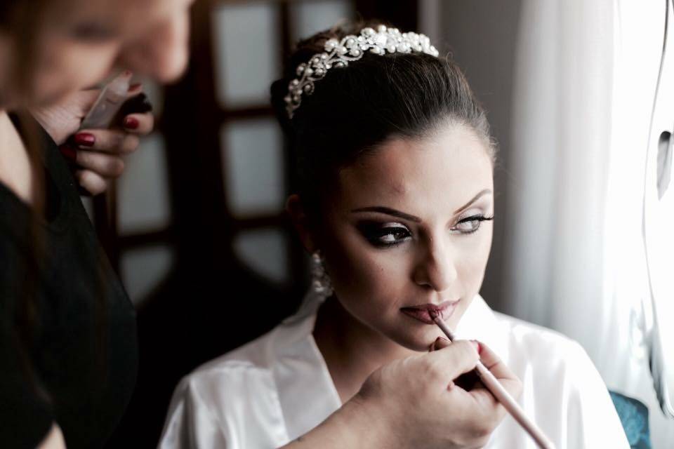
{"label": "lowest frosted glass door pane, just beside the black top", "polygon": [[138,306],[164,280],[173,265],[169,246],[151,246],[125,251],[121,256],[121,279],[133,304]]}

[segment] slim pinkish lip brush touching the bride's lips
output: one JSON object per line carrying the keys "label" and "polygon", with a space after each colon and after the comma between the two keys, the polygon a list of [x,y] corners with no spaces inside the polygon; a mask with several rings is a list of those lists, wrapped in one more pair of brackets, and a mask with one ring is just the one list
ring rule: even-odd
{"label": "slim pinkish lip brush touching the bride's lips", "polygon": [[[444,335],[447,335],[447,338],[453,342],[454,333],[452,333],[444,321],[442,321],[442,318],[437,314],[437,311],[430,310],[429,313],[431,319],[435,321],[435,324],[437,324],[437,326],[442,330]],[[520,404],[515,401],[513,396],[510,396],[508,391],[503,388],[503,385],[498,382],[496,377],[491,374],[491,371],[489,371],[487,367],[482,364],[482,362],[477,361],[475,373],[478,377],[480,377],[480,380],[484,386],[489,389],[491,394],[494,395],[496,400],[501,403],[505,410],[508,410],[508,413],[510,413],[510,415],[515,418],[515,421],[520,423],[522,428],[527,431],[531,438],[534,438],[534,441],[536,441],[538,447],[543,449],[555,449],[555,445],[550,441],[546,434],[543,434],[543,431],[536,425],[536,423],[527,417],[527,415],[524,413],[524,410],[522,410],[522,407],[520,407]]]}

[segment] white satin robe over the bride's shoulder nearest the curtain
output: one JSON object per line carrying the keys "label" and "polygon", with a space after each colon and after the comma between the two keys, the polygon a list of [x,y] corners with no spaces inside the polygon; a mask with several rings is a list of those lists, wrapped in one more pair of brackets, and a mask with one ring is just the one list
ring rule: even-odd
{"label": "white satin robe over the bride's shoulder nearest the curtain", "polygon": [[565,435],[558,447],[629,447],[609,391],[581,344],[511,316],[496,319],[494,337],[507,342],[504,361],[522,380],[519,402],[548,434]]}

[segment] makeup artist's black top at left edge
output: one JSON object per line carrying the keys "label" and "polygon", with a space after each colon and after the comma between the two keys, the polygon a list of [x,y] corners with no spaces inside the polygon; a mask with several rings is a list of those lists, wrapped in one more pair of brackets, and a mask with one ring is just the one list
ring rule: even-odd
{"label": "makeup artist's black top at left edge", "polygon": [[100,448],[136,382],[136,315],[44,142],[45,215],[0,183],[0,448],[34,448],[53,423],[68,449]]}

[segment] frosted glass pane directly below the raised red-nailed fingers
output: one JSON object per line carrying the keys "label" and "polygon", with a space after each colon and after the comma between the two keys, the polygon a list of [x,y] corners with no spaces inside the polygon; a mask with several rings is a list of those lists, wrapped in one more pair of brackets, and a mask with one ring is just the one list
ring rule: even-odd
{"label": "frosted glass pane directly below the raised red-nailed fingers", "polygon": [[126,156],[126,170],[117,181],[121,234],[161,229],[169,225],[169,185],[164,140],[152,134]]}

